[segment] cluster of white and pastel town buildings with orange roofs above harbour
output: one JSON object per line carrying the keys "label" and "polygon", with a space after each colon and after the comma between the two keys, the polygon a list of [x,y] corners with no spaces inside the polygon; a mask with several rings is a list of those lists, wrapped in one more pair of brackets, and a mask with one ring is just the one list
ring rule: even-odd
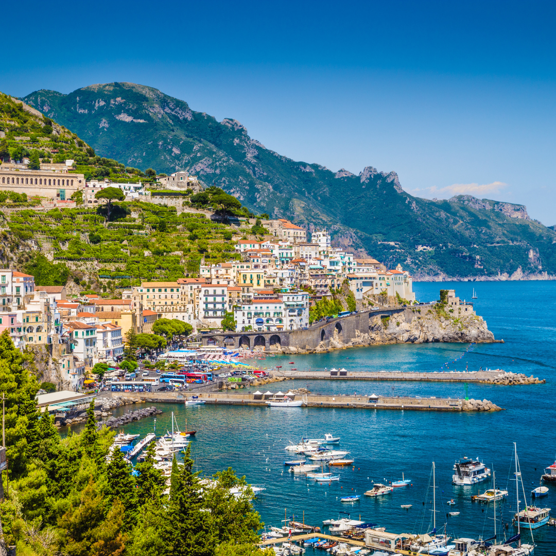
{"label": "cluster of white and pastel town buildings with orange roofs above harbour", "polygon": [[310,326],[310,308],[342,285],[355,301],[369,295],[415,300],[412,278],[400,265],[386,269],[331,246],[330,234],[307,232],[285,219],[265,220],[271,239],[239,240],[236,257],[200,265],[198,277],[142,281],[120,299],[69,297],[66,286],[36,286],[34,277],[0,269],[0,333],[19,349],[47,347],[59,376],[77,387],[96,363],[121,359],[129,330],[149,334],[159,319],[177,319],[192,334],[214,329],[280,331]]}

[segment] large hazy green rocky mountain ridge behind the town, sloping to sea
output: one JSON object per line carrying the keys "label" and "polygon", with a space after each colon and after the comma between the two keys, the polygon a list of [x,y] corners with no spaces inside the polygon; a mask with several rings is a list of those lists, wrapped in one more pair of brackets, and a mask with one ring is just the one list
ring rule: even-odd
{"label": "large hazy green rocky mountain ridge behind the town, sloping to sea", "polygon": [[505,279],[556,275],[556,232],[521,205],[471,196],[413,197],[395,172],[359,175],[294,161],[261,145],[236,120],[133,83],[91,85],[23,99],[62,123],[97,155],[158,172],[187,170],[257,214],[326,226],[335,245],[367,252],[416,277]]}

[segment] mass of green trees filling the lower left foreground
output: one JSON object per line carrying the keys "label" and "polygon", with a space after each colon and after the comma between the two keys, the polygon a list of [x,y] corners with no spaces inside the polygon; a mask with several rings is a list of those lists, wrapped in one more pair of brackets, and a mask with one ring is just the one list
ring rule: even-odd
{"label": "mass of green trees filling the lower left foreground", "polygon": [[[193,473],[190,448],[174,462],[171,484],[154,468],[154,446],[138,476],[114,433],[97,429],[93,403],[81,434],[62,439],[47,412],[37,410],[34,376],[9,336],[0,336],[0,386],[8,393],[9,497],[0,504],[4,542],[24,556],[260,556],[259,514],[230,469],[210,488]],[[4,485],[6,474],[4,473]]]}

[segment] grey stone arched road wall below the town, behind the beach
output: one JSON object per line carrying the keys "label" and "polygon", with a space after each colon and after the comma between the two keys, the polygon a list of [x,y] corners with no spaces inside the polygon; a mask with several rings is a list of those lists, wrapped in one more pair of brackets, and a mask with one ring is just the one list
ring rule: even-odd
{"label": "grey stone arched road wall below the town, behind the beach", "polygon": [[353,340],[356,330],[361,334],[369,331],[369,318],[391,316],[406,309],[381,309],[374,311],[360,311],[355,315],[348,315],[331,319],[328,322],[318,322],[307,330],[276,330],[276,331],[249,331],[249,332],[221,332],[214,331],[202,334],[201,341],[204,346],[227,347],[228,349],[260,349],[280,350],[282,347],[297,347],[297,349],[314,350],[324,342],[329,347],[330,340],[337,335],[342,342]]}

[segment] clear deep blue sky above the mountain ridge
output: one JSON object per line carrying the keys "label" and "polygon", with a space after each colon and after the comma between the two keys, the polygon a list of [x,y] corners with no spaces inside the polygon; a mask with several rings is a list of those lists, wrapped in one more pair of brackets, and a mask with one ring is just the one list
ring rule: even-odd
{"label": "clear deep blue sky above the mountain ridge", "polygon": [[4,29],[0,90],[142,83],[296,160],[554,225],[555,6],[31,0]]}

